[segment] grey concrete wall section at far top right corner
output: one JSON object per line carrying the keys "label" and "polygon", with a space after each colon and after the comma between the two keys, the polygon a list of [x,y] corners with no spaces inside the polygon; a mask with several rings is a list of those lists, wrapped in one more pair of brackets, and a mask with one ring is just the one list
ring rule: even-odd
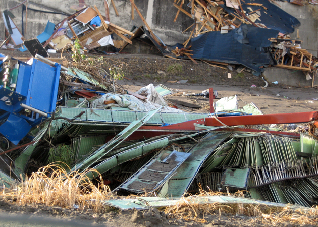
{"label": "grey concrete wall section at far top right corner", "polygon": [[[298,6],[288,2],[277,2],[282,10],[297,18],[301,25],[299,29],[299,40],[303,43],[301,47],[307,49],[314,56],[318,55],[318,17],[313,8],[316,6]],[[297,30],[291,34],[291,38],[297,38]]]}

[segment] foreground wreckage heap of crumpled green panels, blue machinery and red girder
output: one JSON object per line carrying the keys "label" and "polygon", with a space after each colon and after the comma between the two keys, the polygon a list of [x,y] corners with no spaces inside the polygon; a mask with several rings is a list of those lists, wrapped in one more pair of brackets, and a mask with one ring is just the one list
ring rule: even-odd
{"label": "foreground wreckage heap of crumpled green panels, blue machinery and red girder", "polygon": [[[220,111],[219,100],[216,112],[211,108],[210,113],[188,113],[149,101],[151,95],[157,102],[161,98],[153,85],[128,92],[114,88],[114,81],[108,87],[79,69],[37,58],[24,63],[2,57],[2,188],[59,161],[70,166],[70,173],[85,173],[92,180],[99,176],[89,169],[96,169],[114,193],[156,194],[155,199],[145,197],[148,205],[167,204],[165,198],[195,193],[199,185],[213,191],[247,189],[244,199],[206,198],[210,202],[298,207],[318,203],[318,140],[310,136],[318,112],[259,115],[255,105],[247,105],[253,106],[251,112],[247,107]],[[43,80],[43,70],[51,80]],[[77,88],[81,84],[98,95],[83,98],[83,88]],[[141,95],[145,93],[147,97]],[[268,127],[308,122],[309,130],[303,133]],[[148,207],[138,201],[130,206]],[[120,201],[103,203],[127,207]]]}

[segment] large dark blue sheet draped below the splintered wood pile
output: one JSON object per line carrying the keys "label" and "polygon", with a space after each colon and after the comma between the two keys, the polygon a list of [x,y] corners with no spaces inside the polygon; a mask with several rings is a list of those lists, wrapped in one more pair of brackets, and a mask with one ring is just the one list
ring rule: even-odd
{"label": "large dark blue sheet draped below the splintered wood pile", "polygon": [[279,31],[242,25],[229,31],[207,32],[192,39],[191,47],[194,59],[242,64],[256,72],[257,65],[277,65],[269,51],[269,38],[276,38]]}

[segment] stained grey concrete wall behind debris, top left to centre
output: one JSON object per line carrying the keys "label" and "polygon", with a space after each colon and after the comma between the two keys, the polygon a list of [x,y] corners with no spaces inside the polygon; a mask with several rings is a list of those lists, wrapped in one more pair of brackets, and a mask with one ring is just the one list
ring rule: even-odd
{"label": "stained grey concrete wall behind debris, top left to centre", "polygon": [[[8,0],[0,1],[0,11],[11,9],[22,0]],[[109,1],[111,3],[111,1]],[[131,19],[131,3],[129,0],[115,0],[115,5],[119,16],[116,16],[114,7],[110,4],[110,20],[112,23],[130,30],[133,25],[139,27],[144,25],[139,15],[135,11],[134,20]],[[33,4],[34,3],[34,4]],[[103,0],[86,0],[86,4],[96,5],[102,15],[105,15]],[[25,3],[26,4],[26,3]],[[177,9],[173,7],[171,0],[135,0],[135,4],[140,10],[143,17],[146,19],[153,32],[157,34],[166,44],[172,45],[176,42],[184,42],[189,37],[189,34],[182,34],[181,32],[189,27],[193,20],[183,13],[179,14],[176,23],[173,23]],[[33,0],[29,1],[28,7],[38,10],[49,11],[49,9],[64,12],[66,14],[73,14],[75,10],[70,9],[72,5],[78,5],[77,0]],[[45,6],[45,7],[44,7]],[[186,6],[184,6],[187,9]],[[13,19],[19,30],[22,32],[22,6],[17,7],[11,11],[16,17]],[[27,15],[27,30],[24,34],[26,39],[34,38],[42,31],[44,31],[47,21],[58,23],[62,21],[65,15],[47,14],[28,10]],[[25,26],[26,13],[23,14],[23,21]],[[3,24],[3,18],[0,17],[0,24]],[[0,38],[4,39],[4,29],[0,29]]]}

